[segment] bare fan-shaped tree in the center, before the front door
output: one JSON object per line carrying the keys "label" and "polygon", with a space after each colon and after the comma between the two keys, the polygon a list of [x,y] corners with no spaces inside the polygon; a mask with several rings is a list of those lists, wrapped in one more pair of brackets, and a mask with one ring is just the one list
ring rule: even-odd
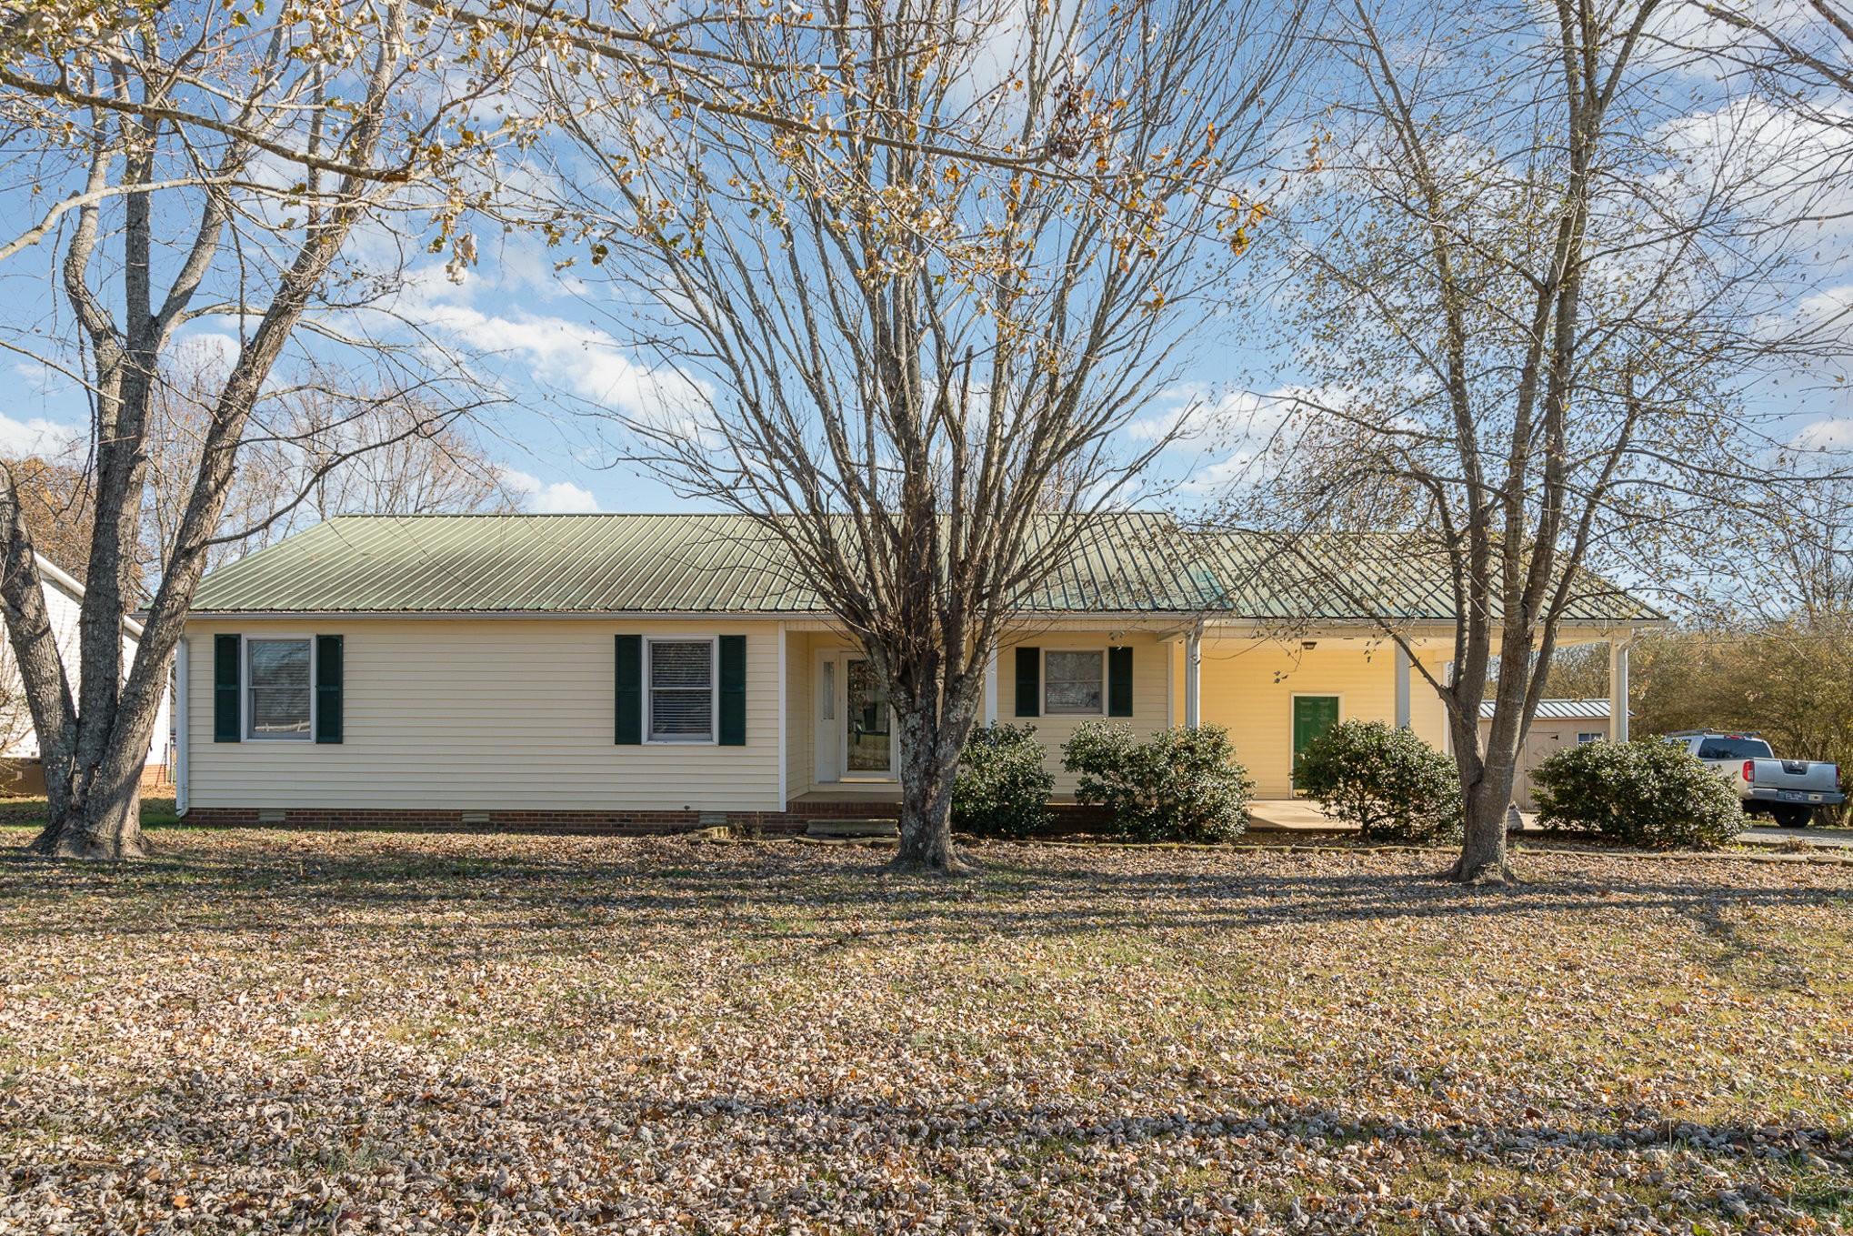
{"label": "bare fan-shaped tree in the center, before the front door", "polygon": [[986,660],[1167,441],[1125,430],[1247,245],[1299,22],[839,0],[708,24],[699,63],[732,85],[665,78],[660,122],[556,82],[604,172],[563,169],[560,217],[654,309],[639,456],[758,521],[862,641],[901,739],[901,867],[960,869]]}

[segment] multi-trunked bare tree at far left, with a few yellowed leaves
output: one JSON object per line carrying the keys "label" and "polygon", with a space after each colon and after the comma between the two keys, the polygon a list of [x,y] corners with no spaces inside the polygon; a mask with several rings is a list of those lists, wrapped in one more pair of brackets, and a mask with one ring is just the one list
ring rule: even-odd
{"label": "multi-trunked bare tree at far left, with a few yellowed leaves", "polygon": [[[435,246],[471,256],[458,224],[480,176],[539,124],[495,109],[521,54],[441,6],[404,0],[269,15],[243,4],[7,11],[0,122],[13,167],[30,169],[15,183],[50,187],[28,202],[54,204],[0,256],[19,259],[48,239],[57,248],[78,343],[46,359],[85,384],[95,478],[78,682],[46,623],[19,493],[0,484],[0,597],[50,799],[41,852],[143,852],[143,752],[252,410],[306,322],[321,322],[321,347],[376,354],[356,315],[389,282],[345,263],[358,232],[393,250],[389,221],[417,209]],[[404,258],[387,258],[387,272],[395,263]],[[211,395],[145,637],[124,667],[161,358],[208,317],[235,335],[235,356]]]}

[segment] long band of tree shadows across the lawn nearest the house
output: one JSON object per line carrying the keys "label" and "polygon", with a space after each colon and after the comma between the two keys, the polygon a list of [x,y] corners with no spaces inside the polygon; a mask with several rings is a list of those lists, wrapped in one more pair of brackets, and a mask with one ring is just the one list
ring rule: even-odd
{"label": "long band of tree shadows across the lawn nearest the house", "polygon": [[[1834,884],[1736,886],[1729,864],[1673,875],[1666,864],[1614,862],[1581,867],[1508,889],[1460,888],[1431,873],[1305,871],[1293,856],[1242,851],[1179,851],[1175,862],[1127,871],[1116,851],[1097,862],[1075,851],[991,851],[984,871],[956,884],[891,877],[880,852],[799,845],[710,847],[678,838],[576,839],[565,854],[506,849],[434,852],[415,834],[365,834],[361,852],[276,834],[278,845],[241,845],[232,854],[165,845],[146,862],[56,864],[0,851],[0,897],[32,902],[83,895],[133,912],[167,904],[189,927],[245,930],[254,923],[302,921],[317,910],[413,915],[434,899],[478,912],[484,925],[521,930],[597,923],[611,915],[665,925],[713,927],[739,940],[841,943],[858,923],[860,943],[928,932],[949,943],[1036,934],[1082,938],[1136,928],[1253,930],[1280,925],[1395,919],[1475,921],[1508,914],[1673,912],[1725,945],[1721,964],[1779,945],[1731,925],[1721,910],[1853,906],[1853,888]],[[1418,856],[1427,858],[1427,856]],[[1603,862],[1582,860],[1577,864]],[[1280,867],[1288,867],[1282,871]],[[1636,875],[1645,871],[1647,875]],[[1838,875],[1838,869],[1836,869]],[[189,914],[185,904],[209,914]],[[178,921],[176,921],[178,925]]]}

